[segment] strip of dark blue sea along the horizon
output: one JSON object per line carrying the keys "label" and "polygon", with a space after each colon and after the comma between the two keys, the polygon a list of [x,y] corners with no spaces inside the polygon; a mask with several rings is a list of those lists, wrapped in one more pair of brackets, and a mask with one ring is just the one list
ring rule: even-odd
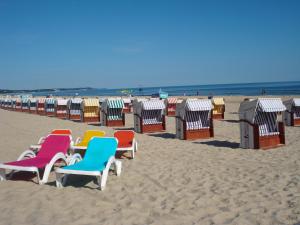
{"label": "strip of dark blue sea along the horizon", "polygon": [[267,83],[236,83],[211,85],[185,85],[135,88],[86,88],[47,92],[31,92],[33,96],[151,96],[159,91],[169,96],[221,96],[221,95],[300,95],[300,81],[267,82]]}

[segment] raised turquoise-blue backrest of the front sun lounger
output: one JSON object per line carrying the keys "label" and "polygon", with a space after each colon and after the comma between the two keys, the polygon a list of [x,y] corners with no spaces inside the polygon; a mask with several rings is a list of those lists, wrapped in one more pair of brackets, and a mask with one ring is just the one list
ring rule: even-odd
{"label": "raised turquoise-blue backrest of the front sun lounger", "polygon": [[93,164],[106,164],[116,154],[118,140],[108,137],[94,137],[88,144],[84,161]]}

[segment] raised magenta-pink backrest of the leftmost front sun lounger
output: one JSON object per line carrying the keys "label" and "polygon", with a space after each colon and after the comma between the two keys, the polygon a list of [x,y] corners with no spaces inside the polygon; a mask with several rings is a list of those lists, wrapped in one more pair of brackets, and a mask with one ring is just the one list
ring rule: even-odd
{"label": "raised magenta-pink backrest of the leftmost front sun lounger", "polygon": [[51,159],[58,152],[66,154],[70,143],[71,137],[68,135],[49,135],[42,143],[37,157]]}

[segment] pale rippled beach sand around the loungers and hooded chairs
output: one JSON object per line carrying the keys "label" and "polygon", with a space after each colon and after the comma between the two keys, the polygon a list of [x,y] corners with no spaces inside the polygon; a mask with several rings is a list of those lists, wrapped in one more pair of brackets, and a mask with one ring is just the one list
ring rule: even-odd
{"label": "pale rippled beach sand around the loungers and hooded chairs", "polygon": [[[174,139],[175,119],[164,133],[136,134],[134,160],[122,157],[122,174],[100,191],[92,177],[71,176],[66,187],[28,174],[0,183],[0,224],[263,224],[300,223],[300,128],[286,127],[281,148],[239,148],[238,107],[225,97],[225,120],[215,137]],[[0,161],[13,161],[52,129],[114,129],[0,110]],[[133,128],[132,114],[126,127]],[[122,128],[124,129],[124,128]],[[27,180],[24,180],[28,178]]]}

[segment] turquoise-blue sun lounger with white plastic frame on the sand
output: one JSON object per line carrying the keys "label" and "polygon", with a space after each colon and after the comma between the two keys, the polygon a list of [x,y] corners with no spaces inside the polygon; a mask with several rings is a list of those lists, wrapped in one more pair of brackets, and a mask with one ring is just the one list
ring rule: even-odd
{"label": "turquoise-blue sun lounger with white plastic frame on the sand", "polygon": [[[96,176],[98,185],[104,190],[110,167],[114,165],[114,170],[119,176],[121,174],[122,163],[115,159],[118,146],[116,138],[94,137],[90,140],[85,156],[73,165],[57,168],[56,186],[63,187],[68,174]],[[66,175],[64,175],[66,174]]]}

